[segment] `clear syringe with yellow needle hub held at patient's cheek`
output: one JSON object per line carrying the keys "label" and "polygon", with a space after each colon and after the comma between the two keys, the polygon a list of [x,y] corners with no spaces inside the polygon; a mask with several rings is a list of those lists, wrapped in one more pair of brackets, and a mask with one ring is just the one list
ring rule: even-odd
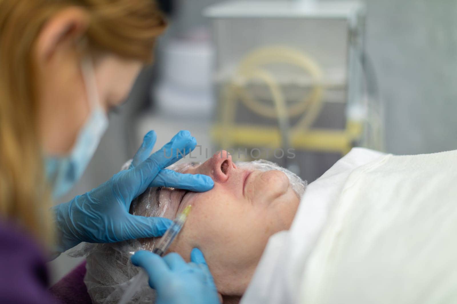
{"label": "clear syringe with yellow needle hub held at patient's cheek", "polygon": [[[186,222],[187,216],[191,211],[192,205],[186,206],[184,211],[179,214],[173,223],[171,224],[170,228],[167,229],[163,237],[160,239],[160,242],[154,247],[154,253],[158,254],[159,256],[164,256],[165,252],[170,247],[171,243],[181,231],[182,226],[184,226],[184,222]],[[122,296],[119,304],[127,304],[130,299],[137,293],[138,289],[141,289],[140,283],[148,279],[148,274],[141,269],[138,274],[132,278],[130,286],[126,290],[125,294]]]}

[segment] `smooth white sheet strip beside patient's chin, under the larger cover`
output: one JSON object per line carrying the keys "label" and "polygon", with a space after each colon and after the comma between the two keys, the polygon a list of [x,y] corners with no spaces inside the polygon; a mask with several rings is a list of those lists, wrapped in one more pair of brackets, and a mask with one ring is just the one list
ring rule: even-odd
{"label": "smooth white sheet strip beside patient's chin, under the larger cover", "polygon": [[241,303],[297,303],[306,260],[353,170],[384,154],[354,148],[308,185],[292,227],[270,237]]}

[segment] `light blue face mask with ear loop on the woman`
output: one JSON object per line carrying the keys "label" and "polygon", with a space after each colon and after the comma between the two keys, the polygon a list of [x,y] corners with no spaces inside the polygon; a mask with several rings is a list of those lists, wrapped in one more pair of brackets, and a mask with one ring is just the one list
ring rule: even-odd
{"label": "light blue face mask with ear loop on the woman", "polygon": [[101,108],[95,72],[90,59],[86,58],[82,62],[81,69],[91,108],[90,115],[69,155],[45,157],[46,177],[52,187],[54,199],[65,195],[81,178],[108,127],[108,118]]}

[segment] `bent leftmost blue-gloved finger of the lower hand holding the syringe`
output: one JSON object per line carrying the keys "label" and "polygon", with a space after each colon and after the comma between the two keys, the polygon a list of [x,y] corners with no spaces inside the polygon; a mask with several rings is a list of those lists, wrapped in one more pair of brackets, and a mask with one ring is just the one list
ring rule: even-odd
{"label": "bent leftmost blue-gloved finger of the lower hand holding the syringe", "polygon": [[171,275],[167,263],[159,255],[140,250],[130,258],[133,265],[143,268],[149,275],[149,286],[160,290],[166,288],[166,282]]}

